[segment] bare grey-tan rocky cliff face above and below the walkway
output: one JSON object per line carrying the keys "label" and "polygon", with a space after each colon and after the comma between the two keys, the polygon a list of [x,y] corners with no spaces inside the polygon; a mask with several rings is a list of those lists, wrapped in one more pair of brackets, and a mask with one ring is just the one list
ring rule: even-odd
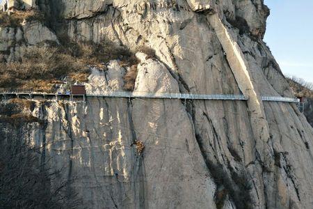
{"label": "bare grey-tan rocky cliff face above and below the walkway", "polygon": [[[88,98],[38,102],[26,134],[87,208],[312,208],[312,127],[262,41],[268,8],[243,1],[38,1],[50,21],[1,29],[6,61],[46,40],[109,38],[140,60],[134,92],[243,94],[246,101]],[[16,41],[24,38],[21,45]],[[111,61],[88,93],[122,91]],[[29,110],[28,110],[29,111]],[[138,153],[135,140],[145,149]]]}

